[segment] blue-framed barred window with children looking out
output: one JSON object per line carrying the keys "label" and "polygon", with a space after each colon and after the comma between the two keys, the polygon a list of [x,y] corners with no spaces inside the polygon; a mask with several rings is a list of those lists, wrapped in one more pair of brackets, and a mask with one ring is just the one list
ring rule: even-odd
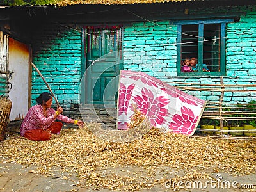
{"label": "blue-framed barred window with children looking out", "polygon": [[[225,25],[230,21],[189,21],[177,25],[179,76],[225,74]],[[197,65],[190,66],[191,72],[182,69],[186,58],[197,60]]]}

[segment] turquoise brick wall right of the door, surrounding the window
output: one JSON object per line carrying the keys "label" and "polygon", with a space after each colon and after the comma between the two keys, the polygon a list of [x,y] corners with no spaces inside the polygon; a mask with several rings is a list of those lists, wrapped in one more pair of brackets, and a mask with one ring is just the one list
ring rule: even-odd
{"label": "turquoise brick wall right of the door, surrounding the window", "polygon": [[[255,10],[255,8],[254,8]],[[220,84],[220,76],[177,77],[175,25],[169,21],[134,23],[124,30],[124,69],[143,71],[172,85],[175,82]],[[168,29],[168,30],[167,30]],[[256,83],[256,12],[241,15],[227,24],[226,76],[224,84]],[[232,88],[231,88],[232,89]],[[234,88],[233,88],[234,89]],[[251,90],[253,88],[250,88]],[[186,91],[204,100],[218,102],[220,92]],[[249,102],[256,93],[225,92],[225,101]]]}

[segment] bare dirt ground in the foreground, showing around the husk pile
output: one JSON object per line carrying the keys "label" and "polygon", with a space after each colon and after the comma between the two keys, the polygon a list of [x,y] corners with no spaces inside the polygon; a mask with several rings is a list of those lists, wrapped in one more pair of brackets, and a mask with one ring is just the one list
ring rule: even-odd
{"label": "bare dirt ground in the foreground, showing around the husk pile", "polygon": [[[120,175],[132,174],[136,167],[122,167],[122,168],[109,168],[109,170],[102,170],[102,172],[116,172]],[[76,175],[70,175],[70,173],[63,173],[56,168],[52,170],[52,175],[40,175],[38,173],[33,173],[36,170],[35,167],[26,167],[16,163],[0,163],[0,191],[52,191],[52,192],[63,192],[63,191],[111,191],[110,189],[93,190],[93,186],[86,186],[86,182],[79,180]],[[168,168],[166,168],[168,170]],[[173,172],[173,174],[184,175],[184,170],[168,170]],[[143,174],[143,173],[141,173]],[[161,177],[163,174],[163,168],[159,168],[156,177]],[[212,177],[214,174],[210,173]],[[218,188],[217,185],[209,184],[205,188],[205,183],[210,182],[207,179],[200,180],[204,184],[203,189],[196,188],[186,188],[183,184],[184,189],[180,191],[255,191],[256,186],[252,189],[249,184],[256,184],[256,174],[246,175],[243,177],[232,177],[227,173],[221,173],[223,179],[230,181],[230,187],[223,185],[223,187]],[[237,184],[236,184],[237,182]],[[232,186],[234,183],[234,186]],[[243,185],[243,186],[241,186]],[[251,188],[251,189],[243,189]],[[170,184],[166,186],[156,185],[152,189],[141,189],[141,191],[173,191],[170,189]]]}

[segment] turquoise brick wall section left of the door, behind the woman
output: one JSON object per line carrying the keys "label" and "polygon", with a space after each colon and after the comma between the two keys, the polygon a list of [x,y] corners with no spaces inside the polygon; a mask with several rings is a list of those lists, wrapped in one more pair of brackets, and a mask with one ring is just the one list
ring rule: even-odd
{"label": "turquoise brick wall section left of the door, behind the woman", "polygon": [[[63,106],[80,101],[81,33],[76,30],[47,25],[33,33],[33,63],[45,77],[58,102]],[[33,69],[32,105],[42,92],[49,92]]]}

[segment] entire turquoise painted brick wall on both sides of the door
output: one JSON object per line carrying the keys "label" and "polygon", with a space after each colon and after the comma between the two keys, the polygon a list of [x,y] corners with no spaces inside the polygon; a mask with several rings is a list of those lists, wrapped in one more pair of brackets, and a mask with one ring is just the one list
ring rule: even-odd
{"label": "entire turquoise painted brick wall on both sides of the door", "polygon": [[[250,8],[253,10],[253,8]],[[254,8],[255,10],[255,8]],[[244,11],[244,10],[243,10]],[[70,26],[76,28],[76,26]],[[162,81],[220,84],[220,76],[177,77],[177,27],[169,20],[136,22],[124,28],[124,69],[138,70]],[[256,12],[241,15],[238,22],[227,24],[225,84],[256,83]],[[33,31],[33,63],[39,68],[59,102],[70,106],[80,102],[81,33],[49,23]],[[172,84],[172,83],[170,83]],[[175,84],[173,84],[175,85]],[[176,84],[177,85],[177,84]],[[32,104],[36,97],[48,91],[33,70]],[[192,92],[204,100],[218,101],[220,92]],[[256,93],[225,92],[225,101],[249,102]]]}

